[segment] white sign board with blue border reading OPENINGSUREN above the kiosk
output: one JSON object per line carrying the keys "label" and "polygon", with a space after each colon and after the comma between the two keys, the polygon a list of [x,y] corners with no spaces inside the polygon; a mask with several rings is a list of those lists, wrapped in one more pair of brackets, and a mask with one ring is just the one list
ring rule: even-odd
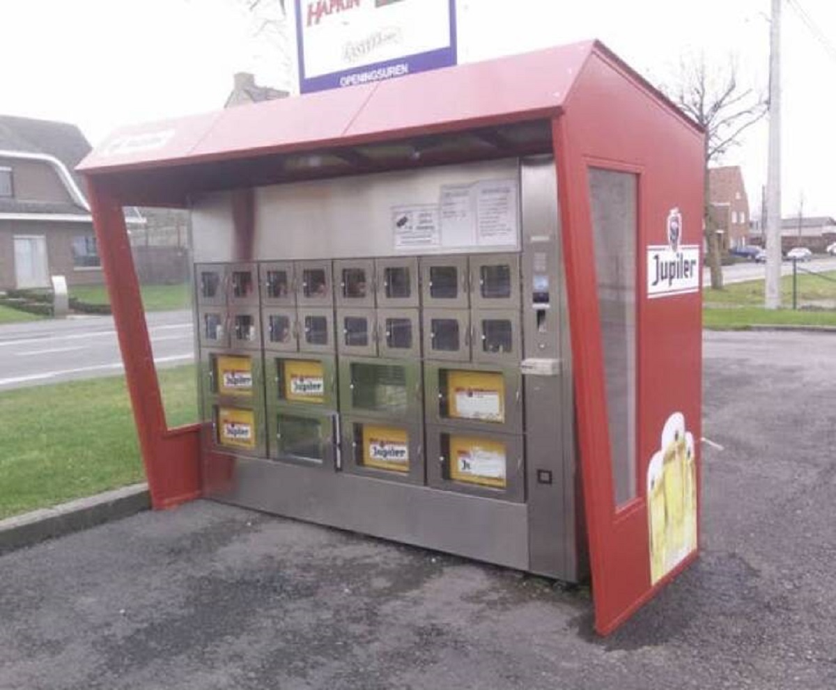
{"label": "white sign board with blue border reading OPENINGSUREN above the kiosk", "polygon": [[299,91],[456,64],[456,0],[296,0]]}

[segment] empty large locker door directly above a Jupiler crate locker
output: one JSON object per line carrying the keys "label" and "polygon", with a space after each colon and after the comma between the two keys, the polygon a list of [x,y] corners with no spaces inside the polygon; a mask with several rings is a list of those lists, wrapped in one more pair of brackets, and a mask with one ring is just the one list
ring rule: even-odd
{"label": "empty large locker door directly above a Jupiler crate locker", "polygon": [[339,408],[374,419],[421,419],[421,363],[404,359],[340,358]]}

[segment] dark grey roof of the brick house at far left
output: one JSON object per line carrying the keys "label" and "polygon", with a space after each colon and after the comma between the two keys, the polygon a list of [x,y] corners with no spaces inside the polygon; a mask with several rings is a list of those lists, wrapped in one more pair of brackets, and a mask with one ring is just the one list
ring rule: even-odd
{"label": "dark grey roof of the brick house at far left", "polygon": [[64,164],[84,190],[84,178],[75,167],[92,147],[74,124],[0,115],[0,150],[51,155]]}

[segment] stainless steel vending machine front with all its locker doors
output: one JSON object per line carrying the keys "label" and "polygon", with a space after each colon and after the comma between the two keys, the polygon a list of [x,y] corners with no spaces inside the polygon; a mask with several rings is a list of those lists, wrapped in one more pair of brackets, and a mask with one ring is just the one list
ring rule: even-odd
{"label": "stainless steel vending machine front with all its locker doors", "polygon": [[[208,495],[578,581],[554,161],[193,200]],[[212,476],[212,472],[207,472]]]}

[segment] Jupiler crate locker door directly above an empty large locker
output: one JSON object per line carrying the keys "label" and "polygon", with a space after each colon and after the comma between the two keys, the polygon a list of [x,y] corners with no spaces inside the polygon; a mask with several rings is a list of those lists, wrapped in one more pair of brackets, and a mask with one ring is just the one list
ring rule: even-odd
{"label": "Jupiler crate locker door directly above an empty large locker", "polygon": [[333,357],[270,354],[268,405],[337,408],[337,364]]}

